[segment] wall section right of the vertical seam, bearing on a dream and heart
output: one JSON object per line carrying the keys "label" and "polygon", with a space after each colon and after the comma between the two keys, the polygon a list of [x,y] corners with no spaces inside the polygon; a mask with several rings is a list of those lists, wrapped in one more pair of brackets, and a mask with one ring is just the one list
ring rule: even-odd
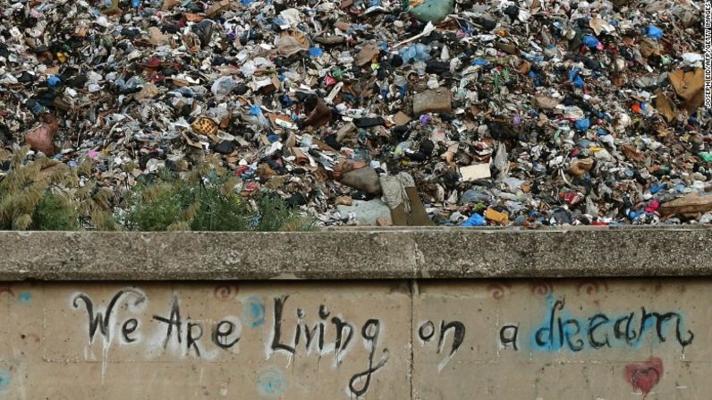
{"label": "wall section right of the vertical seam, bearing on a dream and heart", "polygon": [[709,398],[709,285],[428,281],[413,296],[411,398]]}

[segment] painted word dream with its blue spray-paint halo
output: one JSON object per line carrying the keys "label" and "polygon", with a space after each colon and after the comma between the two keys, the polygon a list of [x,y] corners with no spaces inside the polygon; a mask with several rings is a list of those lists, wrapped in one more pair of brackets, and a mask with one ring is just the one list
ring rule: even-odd
{"label": "painted word dream with its blue spray-paint halo", "polygon": [[684,347],[694,338],[685,326],[680,311],[657,312],[645,307],[627,314],[598,312],[581,318],[565,309],[564,299],[549,294],[544,319],[531,329],[529,345],[534,352],[572,353],[603,347],[639,349],[644,343],[660,345],[667,341]]}

